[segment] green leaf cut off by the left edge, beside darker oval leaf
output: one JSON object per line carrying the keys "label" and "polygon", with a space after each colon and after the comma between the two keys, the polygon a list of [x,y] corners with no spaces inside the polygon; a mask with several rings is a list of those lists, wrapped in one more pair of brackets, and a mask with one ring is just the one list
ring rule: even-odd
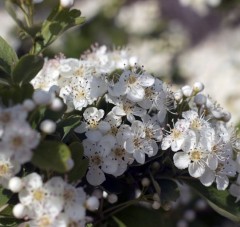
{"label": "green leaf cut off by the left edge, beside darker oval leaf", "polygon": [[0,70],[10,76],[17,61],[18,57],[16,52],[0,36]]}

